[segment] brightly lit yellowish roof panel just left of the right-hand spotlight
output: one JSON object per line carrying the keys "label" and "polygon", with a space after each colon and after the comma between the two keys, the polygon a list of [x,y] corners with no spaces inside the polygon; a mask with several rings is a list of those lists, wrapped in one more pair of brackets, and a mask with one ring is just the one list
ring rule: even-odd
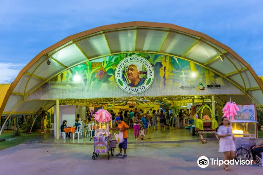
{"label": "brightly lit yellowish roof panel just left of the right-hand spotlight", "polygon": [[205,63],[218,54],[219,52],[211,46],[208,46],[203,42],[198,42],[188,53],[186,53],[185,57],[200,63]]}

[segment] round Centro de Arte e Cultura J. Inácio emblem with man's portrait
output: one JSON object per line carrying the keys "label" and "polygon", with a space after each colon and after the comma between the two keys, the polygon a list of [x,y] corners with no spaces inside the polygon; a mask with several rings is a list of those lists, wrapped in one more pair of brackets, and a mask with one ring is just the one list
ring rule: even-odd
{"label": "round Centro de Arte e Cultura J. In\u00e1cio emblem with man's portrait", "polygon": [[128,93],[145,91],[153,83],[153,67],[141,56],[124,58],[116,67],[115,79],[120,88]]}

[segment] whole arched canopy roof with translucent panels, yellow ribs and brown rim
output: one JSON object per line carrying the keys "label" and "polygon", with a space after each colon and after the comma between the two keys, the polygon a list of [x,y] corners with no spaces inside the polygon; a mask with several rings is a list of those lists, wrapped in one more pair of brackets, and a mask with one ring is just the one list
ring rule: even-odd
{"label": "whole arched canopy roof with translucent panels, yellow ribs and brown rim", "polygon": [[[174,24],[134,21],[83,31],[41,51],[10,85],[0,114],[34,112],[43,105],[49,108],[53,101],[29,101],[27,97],[51,78],[83,62],[130,52],[160,53],[188,60],[226,78],[258,107],[263,104],[262,81],[228,46]],[[46,63],[48,59],[50,66]]]}

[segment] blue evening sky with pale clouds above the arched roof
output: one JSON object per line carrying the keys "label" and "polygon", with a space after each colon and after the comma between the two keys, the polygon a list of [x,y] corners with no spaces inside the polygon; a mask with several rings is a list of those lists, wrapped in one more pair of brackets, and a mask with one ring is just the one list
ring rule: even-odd
{"label": "blue evening sky with pale clouds above the arched roof", "polygon": [[172,23],[232,48],[263,76],[262,0],[0,0],[0,83],[72,34],[129,21]]}

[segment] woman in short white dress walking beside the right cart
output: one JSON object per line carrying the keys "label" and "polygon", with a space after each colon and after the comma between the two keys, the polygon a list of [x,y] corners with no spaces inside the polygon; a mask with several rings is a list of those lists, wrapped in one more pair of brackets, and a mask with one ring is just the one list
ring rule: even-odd
{"label": "woman in short white dress walking beside the right cart", "polygon": [[[224,153],[224,161],[231,160],[236,156],[235,137],[232,134],[229,120],[226,117],[222,117],[221,122],[221,126],[217,129],[217,136],[220,138],[218,151]],[[230,171],[228,165],[225,165],[224,169]]]}

